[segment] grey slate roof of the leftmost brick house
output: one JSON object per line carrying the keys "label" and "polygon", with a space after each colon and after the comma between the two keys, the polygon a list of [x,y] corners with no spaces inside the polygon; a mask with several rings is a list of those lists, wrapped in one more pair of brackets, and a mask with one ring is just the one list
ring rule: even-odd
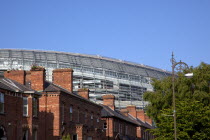
{"label": "grey slate roof of the leftmost brick house", "polygon": [[33,93],[41,95],[41,93],[36,92],[35,90],[8,78],[0,79],[0,88],[13,92]]}

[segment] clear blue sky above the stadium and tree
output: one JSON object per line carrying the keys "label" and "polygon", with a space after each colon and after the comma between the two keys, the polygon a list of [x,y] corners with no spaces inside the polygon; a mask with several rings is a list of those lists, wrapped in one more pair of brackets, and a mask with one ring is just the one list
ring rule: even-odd
{"label": "clear blue sky above the stadium and tree", "polygon": [[0,48],[210,64],[210,0],[0,0]]}

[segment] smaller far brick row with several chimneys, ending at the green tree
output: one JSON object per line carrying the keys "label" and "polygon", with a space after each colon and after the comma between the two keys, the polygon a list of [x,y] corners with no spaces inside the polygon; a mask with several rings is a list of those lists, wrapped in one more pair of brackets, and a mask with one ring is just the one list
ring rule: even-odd
{"label": "smaller far brick row with several chimneys, ending at the green tree", "polygon": [[102,120],[107,140],[151,140],[153,135],[146,131],[153,129],[152,120],[143,110],[130,105],[120,111],[115,110],[114,95],[103,96]]}

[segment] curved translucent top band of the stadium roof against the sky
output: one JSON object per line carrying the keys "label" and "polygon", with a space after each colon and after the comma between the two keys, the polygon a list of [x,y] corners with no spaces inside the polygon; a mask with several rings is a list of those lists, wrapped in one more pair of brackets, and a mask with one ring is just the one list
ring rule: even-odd
{"label": "curved translucent top band of the stadium roof against the sky", "polygon": [[0,58],[16,58],[37,62],[59,63],[66,65],[82,65],[91,68],[102,68],[118,73],[141,75],[145,77],[162,78],[171,75],[170,72],[118,59],[98,55],[84,55],[57,51],[0,49]]}

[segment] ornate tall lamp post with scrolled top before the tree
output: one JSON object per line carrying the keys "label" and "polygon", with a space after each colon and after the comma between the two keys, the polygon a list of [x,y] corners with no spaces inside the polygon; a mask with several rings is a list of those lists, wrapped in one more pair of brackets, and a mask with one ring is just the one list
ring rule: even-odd
{"label": "ornate tall lamp post with scrolled top before the tree", "polygon": [[188,69],[188,65],[180,60],[176,62],[174,59],[174,54],[172,53],[172,92],[173,92],[173,117],[174,117],[174,139],[177,140],[177,131],[176,131],[176,103],[175,103],[175,68],[178,66],[177,70],[182,71]]}

